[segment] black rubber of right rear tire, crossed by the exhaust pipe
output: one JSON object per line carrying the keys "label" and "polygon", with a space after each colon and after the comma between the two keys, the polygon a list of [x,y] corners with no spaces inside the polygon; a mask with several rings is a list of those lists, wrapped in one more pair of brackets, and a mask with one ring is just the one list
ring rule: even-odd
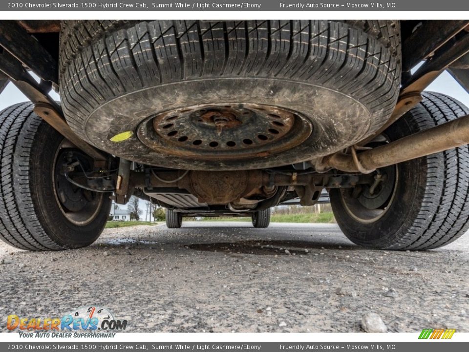
{"label": "black rubber of right rear tire, crossed by the exhaust pipe", "polygon": [[[446,95],[423,94],[423,101],[384,133],[390,140],[441,125],[469,113]],[[403,151],[405,153],[405,151]],[[352,242],[373,248],[425,250],[453,242],[469,228],[469,147],[397,164],[395,195],[381,219],[363,223],[350,216],[343,197],[330,199],[341,230]]]}

